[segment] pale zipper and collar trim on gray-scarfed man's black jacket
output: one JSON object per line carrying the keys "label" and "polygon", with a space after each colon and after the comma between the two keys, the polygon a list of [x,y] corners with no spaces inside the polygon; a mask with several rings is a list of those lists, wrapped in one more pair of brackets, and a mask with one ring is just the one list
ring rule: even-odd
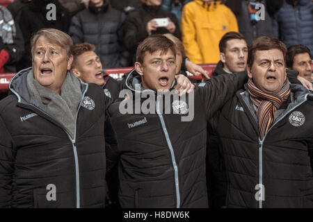
{"label": "pale zipper and collar trim on gray-scarfed man's black jacket", "polygon": [[[88,85],[86,84],[86,89],[83,92],[82,96],[81,96],[81,102],[79,103],[79,108],[77,109],[77,113],[76,113],[76,119],[75,119],[75,127],[74,127],[74,139],[72,139],[72,137],[70,136],[69,133],[67,133],[67,131],[61,127],[61,129],[67,134],[67,136],[69,137],[70,141],[72,142],[72,146],[73,146],[73,152],[74,152],[74,161],[75,161],[75,178],[76,178],[76,207],[80,208],[80,193],[79,193],[79,162],[78,162],[78,155],[77,155],[77,147],[75,146],[76,143],[76,131],[77,131],[77,116],[79,113],[79,109],[81,108],[81,103],[83,101],[83,97],[85,96],[86,92],[88,89]],[[17,92],[15,92],[15,90],[10,89],[16,96],[18,99],[18,102],[21,103],[21,97],[19,96],[19,94],[17,94]],[[38,109],[35,105],[32,105],[30,103],[28,103],[27,105],[32,106],[33,108],[35,108],[36,110],[40,110]],[[53,119],[54,121],[56,121],[56,119],[54,119],[53,117],[51,117],[48,113],[46,113],[43,110],[40,110],[40,112],[44,112],[45,114],[47,114],[51,119]],[[56,121],[58,122],[58,121]]]}

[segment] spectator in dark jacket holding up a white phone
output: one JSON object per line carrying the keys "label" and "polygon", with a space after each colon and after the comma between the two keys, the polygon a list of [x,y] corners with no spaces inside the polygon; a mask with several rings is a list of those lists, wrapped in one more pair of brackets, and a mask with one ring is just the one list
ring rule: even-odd
{"label": "spectator in dark jacket holding up a white phone", "polygon": [[[172,33],[179,39],[181,33],[177,18],[161,8],[162,0],[141,0],[142,7],[130,12],[125,21],[125,46],[135,62],[136,49],[140,42],[152,34]],[[168,18],[166,27],[158,27],[154,19]]]}

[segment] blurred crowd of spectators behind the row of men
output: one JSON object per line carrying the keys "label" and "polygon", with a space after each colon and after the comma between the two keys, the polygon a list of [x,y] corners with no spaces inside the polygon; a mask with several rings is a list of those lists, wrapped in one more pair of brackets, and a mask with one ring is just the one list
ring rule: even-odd
{"label": "blurred crowd of spectators behind the row of men", "polygon": [[[94,44],[104,69],[132,66],[138,44],[155,33],[172,33],[182,40],[185,56],[198,64],[220,60],[218,42],[230,31],[243,34],[248,45],[268,35],[287,47],[303,44],[313,49],[312,0],[0,0],[0,4],[0,73],[31,66],[30,40],[40,28],[64,31],[74,44]],[[168,18],[168,25],[158,27],[155,18]]]}

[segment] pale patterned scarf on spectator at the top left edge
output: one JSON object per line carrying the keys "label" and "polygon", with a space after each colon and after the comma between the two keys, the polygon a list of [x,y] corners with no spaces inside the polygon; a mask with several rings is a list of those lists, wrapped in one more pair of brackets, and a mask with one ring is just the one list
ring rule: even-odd
{"label": "pale patterned scarf on spectator at the top left edge", "polygon": [[0,37],[4,44],[13,44],[16,29],[13,17],[8,9],[0,6]]}

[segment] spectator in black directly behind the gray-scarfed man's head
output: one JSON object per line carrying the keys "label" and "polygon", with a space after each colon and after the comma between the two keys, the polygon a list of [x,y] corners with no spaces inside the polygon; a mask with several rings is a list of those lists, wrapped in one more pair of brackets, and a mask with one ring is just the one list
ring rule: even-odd
{"label": "spectator in black directly behind the gray-scarfed man's head", "polygon": [[[49,3],[56,6],[55,12],[47,9]],[[20,15],[16,20],[19,28],[21,28],[24,38],[25,52],[17,64],[17,71],[31,67],[31,36],[41,28],[56,28],[67,33],[70,27],[70,14],[61,6],[58,0],[33,0],[20,10]],[[51,14],[52,13],[52,14]],[[56,13],[56,18],[50,18],[50,15]],[[48,16],[49,14],[49,16]],[[49,18],[49,19],[48,19]],[[51,19],[51,20],[50,20]]]}

